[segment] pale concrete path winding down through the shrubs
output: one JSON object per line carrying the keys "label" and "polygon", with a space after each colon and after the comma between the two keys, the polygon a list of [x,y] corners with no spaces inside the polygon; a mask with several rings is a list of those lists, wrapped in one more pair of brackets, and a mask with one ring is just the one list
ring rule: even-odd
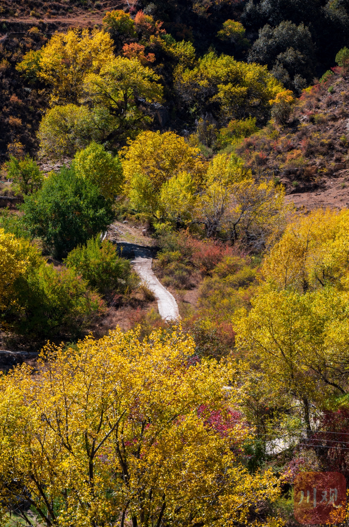
{"label": "pale concrete path winding down through the shrubs", "polygon": [[[135,245],[135,243],[118,242],[117,245],[124,247],[128,253],[130,250],[133,250],[135,257],[131,261],[131,264],[141,280],[154,293],[161,318],[164,320],[180,319],[181,317],[175,298],[154,275],[151,250],[147,247]],[[123,250],[123,255],[125,249]]]}

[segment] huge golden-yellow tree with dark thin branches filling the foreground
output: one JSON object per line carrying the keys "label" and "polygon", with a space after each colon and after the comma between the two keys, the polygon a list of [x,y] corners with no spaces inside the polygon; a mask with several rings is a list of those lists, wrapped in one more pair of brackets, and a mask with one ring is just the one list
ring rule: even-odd
{"label": "huge golden-yellow tree with dark thin branches filling the foreground", "polygon": [[190,366],[193,351],[177,330],[140,343],[116,329],[1,377],[3,513],[25,500],[47,526],[231,525],[276,499],[270,471],[238,463],[249,431],[229,409],[233,370]]}

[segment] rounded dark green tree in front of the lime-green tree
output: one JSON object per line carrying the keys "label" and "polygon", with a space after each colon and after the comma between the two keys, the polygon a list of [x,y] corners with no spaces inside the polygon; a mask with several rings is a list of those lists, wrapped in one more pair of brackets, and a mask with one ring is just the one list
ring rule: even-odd
{"label": "rounded dark green tree in front of the lime-green tree", "polygon": [[37,192],[24,197],[24,225],[62,258],[79,243],[104,231],[113,221],[111,201],[72,169],[51,173]]}

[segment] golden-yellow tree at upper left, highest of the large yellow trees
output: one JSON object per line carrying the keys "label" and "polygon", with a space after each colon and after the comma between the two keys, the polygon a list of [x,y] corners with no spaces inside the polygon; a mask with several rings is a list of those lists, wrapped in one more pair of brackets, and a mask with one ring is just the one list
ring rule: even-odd
{"label": "golden-yellow tree at upper left, highest of the large yellow trees", "polygon": [[29,51],[16,67],[26,75],[36,70],[38,79],[51,86],[52,104],[77,102],[85,75],[98,72],[111,61],[113,49],[113,41],[104,31],[93,30],[89,35],[88,29],[69,29],[56,32],[39,52]]}

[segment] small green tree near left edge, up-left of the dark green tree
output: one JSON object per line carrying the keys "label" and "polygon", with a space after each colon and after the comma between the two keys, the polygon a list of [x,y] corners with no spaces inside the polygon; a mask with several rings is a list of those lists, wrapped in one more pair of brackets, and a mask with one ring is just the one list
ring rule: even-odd
{"label": "small green tree near left edge, up-left of the dark green tree", "polygon": [[24,159],[16,159],[11,155],[6,168],[7,175],[13,180],[17,193],[30,194],[41,188],[43,173],[29,154],[26,154]]}

